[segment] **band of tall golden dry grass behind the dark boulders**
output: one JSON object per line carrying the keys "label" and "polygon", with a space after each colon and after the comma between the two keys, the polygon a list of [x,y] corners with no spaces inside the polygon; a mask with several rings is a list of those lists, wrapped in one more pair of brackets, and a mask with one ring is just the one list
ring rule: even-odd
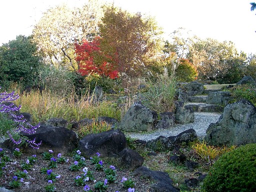
{"label": "band of tall golden dry grass behind the dark boulders", "polygon": [[[19,90],[16,90],[19,93]],[[92,102],[88,95],[81,98],[72,92],[68,96],[61,96],[50,90],[31,91],[20,94],[15,104],[21,105],[21,112],[32,114],[33,122],[42,122],[49,118],[63,118],[71,122],[83,118],[97,118],[109,116],[121,118],[121,111],[112,107],[110,101]]]}

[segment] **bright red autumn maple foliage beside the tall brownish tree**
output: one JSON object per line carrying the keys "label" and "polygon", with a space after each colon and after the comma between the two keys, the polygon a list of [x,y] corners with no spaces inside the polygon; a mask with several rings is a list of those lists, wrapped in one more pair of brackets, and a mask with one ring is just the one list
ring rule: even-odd
{"label": "bright red autumn maple foliage beside the tall brownish tree", "polygon": [[100,39],[100,37],[95,37],[91,42],[84,39],[81,44],[75,43],[78,72],[82,76],[98,74],[109,76],[111,79],[117,78],[117,62],[100,50]]}

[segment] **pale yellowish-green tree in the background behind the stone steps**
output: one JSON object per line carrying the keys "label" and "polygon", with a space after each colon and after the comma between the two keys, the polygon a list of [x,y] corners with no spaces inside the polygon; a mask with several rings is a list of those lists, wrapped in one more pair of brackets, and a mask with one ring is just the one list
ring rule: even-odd
{"label": "pale yellowish-green tree in the background behind the stone steps", "polygon": [[216,80],[225,75],[238,55],[233,42],[206,38],[192,43],[188,58],[197,68],[199,79]]}

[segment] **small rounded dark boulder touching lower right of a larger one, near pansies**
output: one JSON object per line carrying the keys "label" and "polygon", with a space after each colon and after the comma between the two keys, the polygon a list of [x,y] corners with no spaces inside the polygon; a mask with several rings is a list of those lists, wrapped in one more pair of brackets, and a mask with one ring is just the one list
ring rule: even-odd
{"label": "small rounded dark boulder touching lower right of a larger one, near pansies", "polygon": [[129,148],[124,148],[118,155],[121,157],[121,164],[129,170],[134,170],[144,162],[144,158],[138,152]]}

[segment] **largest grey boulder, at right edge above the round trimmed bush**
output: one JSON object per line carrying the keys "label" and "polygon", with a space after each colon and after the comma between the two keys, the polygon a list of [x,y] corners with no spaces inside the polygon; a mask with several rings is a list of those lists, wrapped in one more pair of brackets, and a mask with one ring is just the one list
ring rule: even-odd
{"label": "largest grey boulder, at right edge above the round trimmed bush", "polygon": [[247,100],[228,104],[216,123],[206,130],[211,145],[241,145],[256,142],[256,108]]}

